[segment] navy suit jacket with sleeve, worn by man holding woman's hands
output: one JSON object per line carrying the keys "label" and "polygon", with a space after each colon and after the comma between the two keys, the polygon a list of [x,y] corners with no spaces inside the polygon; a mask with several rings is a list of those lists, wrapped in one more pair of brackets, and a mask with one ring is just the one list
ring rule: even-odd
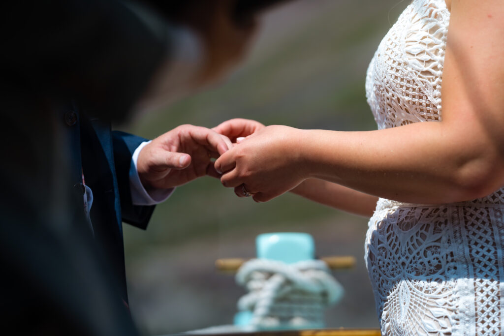
{"label": "navy suit jacket with sleeve, worn by man holding woman's hands", "polygon": [[133,152],[146,139],[112,131],[110,122],[88,116],[75,104],[59,120],[64,123],[70,144],[71,183],[78,191],[84,176],[93,192],[91,234],[110,265],[122,300],[128,302],[122,222],[145,229],[154,211],[154,206],[133,205],[130,191]]}

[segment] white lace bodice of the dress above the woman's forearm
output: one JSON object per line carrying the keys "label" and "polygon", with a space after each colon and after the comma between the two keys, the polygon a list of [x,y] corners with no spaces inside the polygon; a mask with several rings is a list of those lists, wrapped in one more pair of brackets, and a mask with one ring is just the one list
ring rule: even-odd
{"label": "white lace bodice of the dress above the woman's forearm", "polygon": [[366,80],[379,128],[441,120],[449,17],[444,0],[414,1],[382,40]]}

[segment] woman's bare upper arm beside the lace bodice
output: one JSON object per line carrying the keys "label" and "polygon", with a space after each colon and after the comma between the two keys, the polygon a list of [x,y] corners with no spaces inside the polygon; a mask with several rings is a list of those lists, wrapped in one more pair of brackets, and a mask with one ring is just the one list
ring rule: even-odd
{"label": "woman's bare upper arm beside the lace bodice", "polygon": [[443,122],[495,174],[504,171],[504,3],[452,0],[450,11]]}

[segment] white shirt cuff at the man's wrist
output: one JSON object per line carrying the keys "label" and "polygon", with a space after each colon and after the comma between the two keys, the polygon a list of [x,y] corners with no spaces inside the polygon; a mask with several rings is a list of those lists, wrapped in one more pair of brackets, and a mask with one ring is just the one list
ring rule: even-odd
{"label": "white shirt cuff at the man's wrist", "polygon": [[153,206],[161,203],[170,197],[171,193],[175,188],[170,189],[153,189],[150,191],[145,190],[142,182],[140,181],[140,176],[138,176],[137,161],[140,151],[150,143],[150,141],[144,141],[137,147],[135,152],[133,152],[133,157],[131,158],[130,165],[130,190],[132,203],[135,206]]}

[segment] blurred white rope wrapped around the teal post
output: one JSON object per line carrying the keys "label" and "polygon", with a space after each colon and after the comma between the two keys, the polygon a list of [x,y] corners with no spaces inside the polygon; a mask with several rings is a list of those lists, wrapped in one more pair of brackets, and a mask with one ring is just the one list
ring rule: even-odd
{"label": "blurred white rope wrapped around the teal post", "polygon": [[249,324],[256,329],[324,327],[325,308],[343,296],[322,260],[251,259],[239,268],[236,282],[248,290],[238,310],[253,313]]}

